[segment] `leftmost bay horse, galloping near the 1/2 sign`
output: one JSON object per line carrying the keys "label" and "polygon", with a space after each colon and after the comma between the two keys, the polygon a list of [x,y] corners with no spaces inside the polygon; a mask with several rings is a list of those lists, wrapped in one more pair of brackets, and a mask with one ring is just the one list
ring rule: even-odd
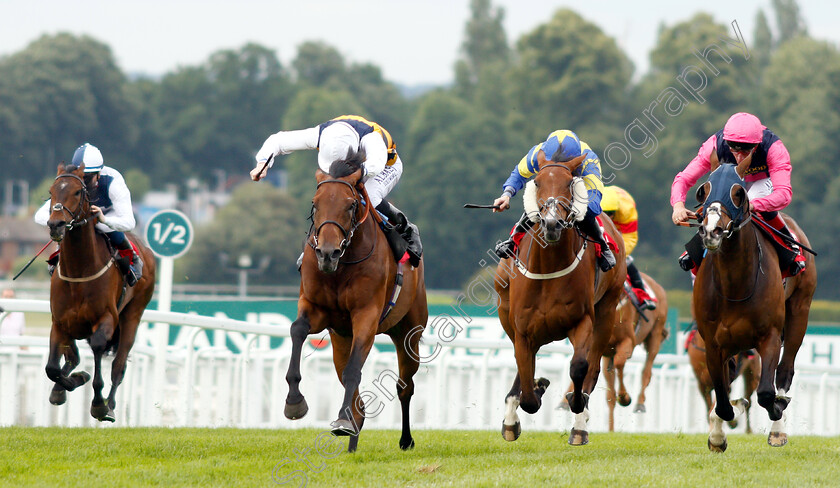
{"label": "leftmost bay horse, galloping near the 1/2 sign", "polygon": [[[155,260],[151,251],[131,233],[126,237],[141,253],[146,265],[133,287],[114,266],[108,238],[95,230],[96,217],[90,211],[89,189],[84,165],[58,165],[50,187],[52,211],[47,225],[50,238],[59,243],[58,266],[50,280],[50,352],[47,376],[55,382],[50,403],[62,405],[67,392],[90,379],[84,371],[72,373],[79,364],[76,341],[87,339],[93,351],[93,401],[90,414],[99,421],[113,422],[117,387],[125,376],[126,360],[143,311],[155,287]],[[111,391],[102,398],[102,356],[116,352],[111,363]],[[64,366],[60,357],[64,356]],[[69,375],[69,376],[68,376]]]}

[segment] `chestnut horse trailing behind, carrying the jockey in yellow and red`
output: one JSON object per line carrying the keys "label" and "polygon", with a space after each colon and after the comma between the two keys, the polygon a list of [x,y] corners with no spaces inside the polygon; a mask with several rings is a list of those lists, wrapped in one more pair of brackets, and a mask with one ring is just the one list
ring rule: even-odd
{"label": "chestnut horse trailing behind, carrying the jockey in yellow and red", "polygon": [[[636,400],[636,413],[645,413],[645,390],[650,385],[650,378],[653,375],[653,361],[659,354],[662,342],[668,337],[668,329],[665,328],[668,320],[668,299],[665,296],[665,289],[653,278],[641,273],[642,280],[653,290],[653,294],[659,300],[655,310],[645,311],[645,318],[639,314],[639,310],[633,305],[627,293],[618,303],[618,320],[612,331],[607,352],[602,358],[602,374],[607,382],[607,408],[609,409],[609,429],[615,430],[615,404],[616,401],[622,407],[630,405],[633,401],[624,385],[624,366],[627,360],[633,356],[633,350],[639,344],[644,344],[647,356],[645,365],[642,368],[642,388],[639,390],[639,397]],[[615,379],[618,377],[618,390],[615,389]],[[572,391],[574,385],[569,385]],[[565,400],[560,403],[560,408],[568,410],[569,404]]]}

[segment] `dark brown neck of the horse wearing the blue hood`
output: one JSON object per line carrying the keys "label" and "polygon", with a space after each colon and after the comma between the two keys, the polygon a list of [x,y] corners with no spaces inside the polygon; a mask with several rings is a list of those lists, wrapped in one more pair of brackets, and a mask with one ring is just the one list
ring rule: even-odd
{"label": "dark brown neck of the horse wearing the blue hood", "polygon": [[740,296],[744,287],[755,286],[756,267],[761,266],[758,255],[758,240],[752,225],[745,226],[723,239],[720,250],[712,254],[715,267],[715,279],[721,289],[732,290],[734,296]]}

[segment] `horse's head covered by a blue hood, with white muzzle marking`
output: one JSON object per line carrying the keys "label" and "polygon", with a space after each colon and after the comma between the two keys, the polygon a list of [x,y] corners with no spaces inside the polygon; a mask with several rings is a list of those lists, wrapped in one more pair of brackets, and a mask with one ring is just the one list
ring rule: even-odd
{"label": "horse's head covered by a blue hood, with white muzzle marking", "polygon": [[716,251],[724,238],[732,236],[749,221],[750,202],[744,173],[752,162],[752,153],[738,165],[720,164],[712,153],[709,181],[697,189],[697,201],[703,205],[700,237],[703,246]]}

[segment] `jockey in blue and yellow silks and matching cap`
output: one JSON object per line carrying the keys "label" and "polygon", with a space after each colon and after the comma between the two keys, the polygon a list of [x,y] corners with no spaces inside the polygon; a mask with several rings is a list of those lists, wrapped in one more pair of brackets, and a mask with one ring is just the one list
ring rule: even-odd
{"label": "jockey in blue and yellow silks and matching cap", "polygon": [[[576,216],[578,228],[586,235],[601,245],[601,256],[598,257],[598,266],[602,271],[609,271],[615,266],[615,256],[604,239],[601,226],[595,217],[601,213],[601,191],[604,184],[601,183],[601,162],[589,145],[581,141],[577,134],[570,130],[556,130],[548,135],[545,142],[532,147],[528,154],[519,161],[513,168],[510,176],[502,185],[503,193],[497,198],[493,205],[498,209],[493,212],[503,212],[510,208],[510,199],[516,192],[521,190],[527,180],[539,172],[537,156],[543,151],[546,159],[551,161],[570,161],[578,156],[586,155],[583,164],[575,170],[574,176],[583,178],[586,184],[589,202],[584,215]],[[510,238],[496,245],[495,252],[500,258],[513,257],[515,242],[518,242],[522,235],[531,228],[533,223],[527,214],[522,214],[519,222],[511,231]]]}

